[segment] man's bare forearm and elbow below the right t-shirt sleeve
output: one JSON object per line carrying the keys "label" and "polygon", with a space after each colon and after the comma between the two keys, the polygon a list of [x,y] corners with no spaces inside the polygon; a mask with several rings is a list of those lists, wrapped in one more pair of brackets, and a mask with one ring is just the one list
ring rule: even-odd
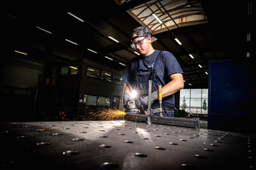
{"label": "man's bare forearm and elbow below the right t-shirt sleeve", "polygon": [[184,88],[183,74],[175,73],[175,74],[170,75],[169,77],[171,79],[171,82],[168,82],[162,88],[163,98],[167,97],[169,95],[175,94],[177,91]]}

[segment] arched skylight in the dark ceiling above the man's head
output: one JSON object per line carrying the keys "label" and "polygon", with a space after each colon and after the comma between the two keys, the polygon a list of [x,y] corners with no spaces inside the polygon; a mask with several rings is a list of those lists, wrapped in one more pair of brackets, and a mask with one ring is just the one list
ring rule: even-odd
{"label": "arched skylight in the dark ceiling above the man's head", "polygon": [[[129,1],[119,0],[115,2],[122,4]],[[165,6],[166,12],[160,8],[160,1],[150,1],[150,6],[138,5],[129,8],[126,12],[138,22],[148,26],[154,34],[166,31],[166,27],[171,30],[177,27],[175,23],[170,20],[170,14],[180,26],[193,26],[207,22],[207,16],[203,11],[200,1],[193,1],[193,3],[191,1],[165,1],[165,3],[161,3]],[[151,8],[154,10],[154,15],[152,14]],[[191,10],[191,8],[193,8],[193,10]],[[157,17],[155,17],[155,15]],[[165,26],[161,24],[163,22]]]}

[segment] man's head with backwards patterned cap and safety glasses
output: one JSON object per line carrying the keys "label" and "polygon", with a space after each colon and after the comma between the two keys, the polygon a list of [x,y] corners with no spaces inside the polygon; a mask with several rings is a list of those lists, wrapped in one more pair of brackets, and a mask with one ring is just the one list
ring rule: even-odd
{"label": "man's head with backwards patterned cap and safety glasses", "polygon": [[131,47],[135,48],[139,54],[148,56],[153,53],[154,48],[151,42],[156,41],[156,37],[152,37],[147,26],[139,26],[131,33]]}

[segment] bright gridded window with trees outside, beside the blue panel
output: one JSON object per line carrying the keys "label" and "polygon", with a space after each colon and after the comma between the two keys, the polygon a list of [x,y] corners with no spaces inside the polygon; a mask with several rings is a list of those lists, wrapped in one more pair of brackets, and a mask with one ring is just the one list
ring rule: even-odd
{"label": "bright gridded window with trees outside, beside the blue panel", "polygon": [[180,110],[191,114],[207,114],[208,89],[191,88],[180,90]]}

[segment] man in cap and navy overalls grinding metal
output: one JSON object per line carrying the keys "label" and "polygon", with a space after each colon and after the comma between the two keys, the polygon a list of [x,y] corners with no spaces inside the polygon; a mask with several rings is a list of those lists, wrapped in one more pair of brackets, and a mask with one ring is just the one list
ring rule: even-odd
{"label": "man in cap and navy overalls grinding metal", "polygon": [[[162,86],[163,116],[174,116],[174,95],[183,88],[183,71],[177,59],[167,51],[155,50],[147,26],[139,26],[131,34],[131,47],[141,54],[131,59],[125,73],[124,105],[131,99],[131,91],[137,91],[137,107],[144,110],[148,106],[148,80],[152,80],[151,107],[159,108],[157,86]],[[159,113],[154,113],[158,116]]]}

